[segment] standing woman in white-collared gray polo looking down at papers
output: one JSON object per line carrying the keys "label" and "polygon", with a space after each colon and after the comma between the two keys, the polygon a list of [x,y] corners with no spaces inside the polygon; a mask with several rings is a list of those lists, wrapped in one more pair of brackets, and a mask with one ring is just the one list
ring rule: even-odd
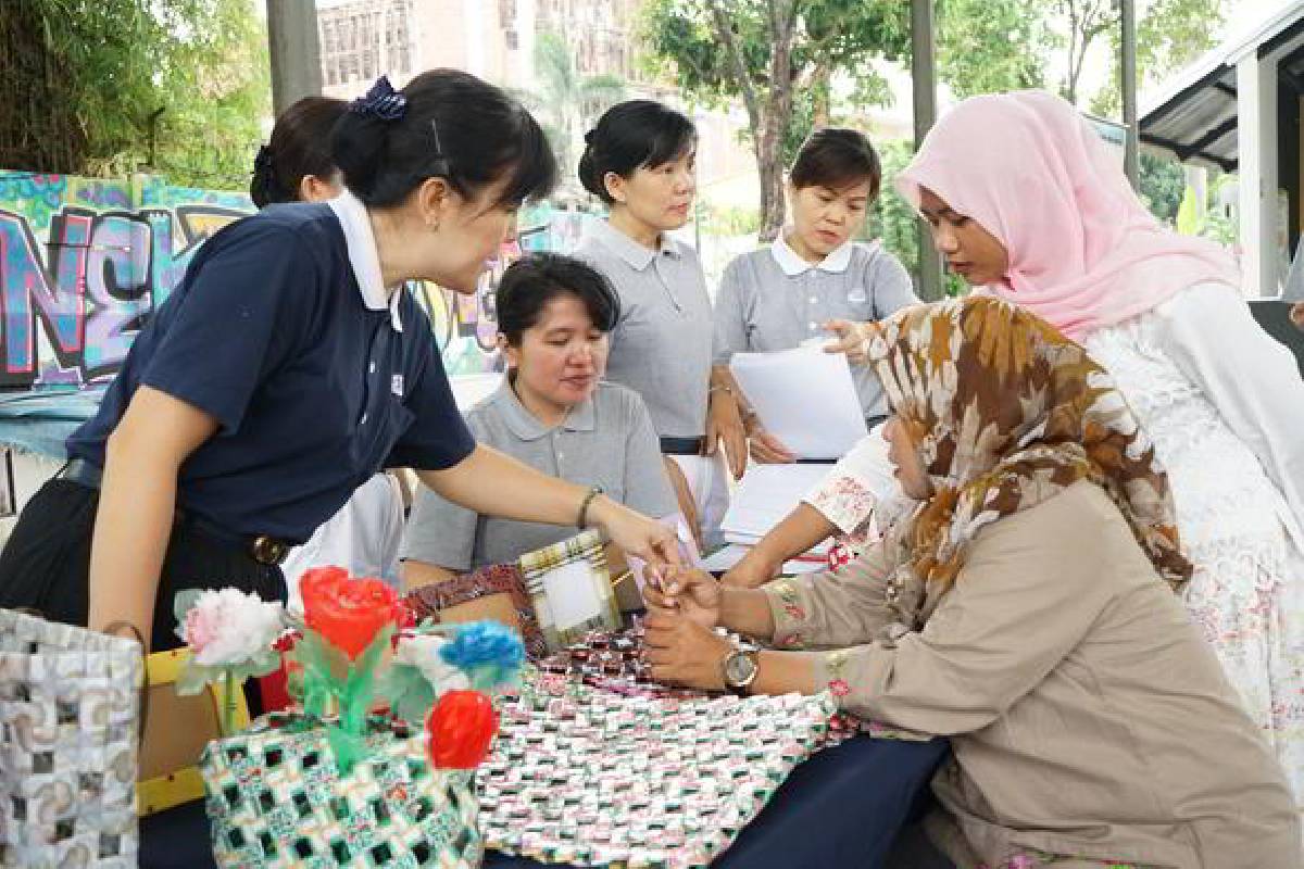
{"label": "standing woman in white-collared gray polo looking down at papers", "polygon": [[[878,242],[854,238],[879,195],[883,171],[857,130],[824,128],[802,143],[788,173],[792,225],[769,248],[725,268],[716,294],[717,366],[734,353],[790,350],[852,323],[876,321],[918,302],[910,275]],[[883,387],[868,366],[852,366],[865,417],[882,422]],[[793,461],[777,438],[747,420],[752,459]]]}

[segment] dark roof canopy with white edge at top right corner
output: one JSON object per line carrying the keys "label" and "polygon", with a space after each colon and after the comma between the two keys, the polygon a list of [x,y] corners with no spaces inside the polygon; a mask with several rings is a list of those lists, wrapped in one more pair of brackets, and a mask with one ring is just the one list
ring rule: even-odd
{"label": "dark roof canopy with white edge at top right corner", "polygon": [[1236,64],[1251,52],[1278,56],[1279,77],[1304,94],[1304,0],[1294,0],[1248,35],[1208,52],[1148,100],[1141,141],[1183,163],[1235,172]]}

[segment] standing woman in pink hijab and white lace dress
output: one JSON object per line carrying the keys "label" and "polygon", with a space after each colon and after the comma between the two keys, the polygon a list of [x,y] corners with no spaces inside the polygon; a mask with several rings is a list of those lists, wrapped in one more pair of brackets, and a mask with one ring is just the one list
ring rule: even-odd
{"label": "standing woman in pink hijab and white lace dress", "polygon": [[1189,612],[1304,804],[1304,383],[1231,257],[1179,236],[1042,91],[968,99],[897,178],[949,267],[1086,347],[1154,439]]}

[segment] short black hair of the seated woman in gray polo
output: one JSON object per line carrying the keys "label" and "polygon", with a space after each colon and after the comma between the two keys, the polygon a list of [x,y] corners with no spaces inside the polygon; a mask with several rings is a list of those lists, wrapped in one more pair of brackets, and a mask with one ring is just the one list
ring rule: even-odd
{"label": "short black hair of the seated woman in gray polo", "polygon": [[606,275],[575,257],[532,253],[507,266],[498,281],[498,331],[509,344],[520,347],[520,336],[539,323],[548,302],[561,296],[583,302],[599,331],[610,332],[621,319],[621,298]]}

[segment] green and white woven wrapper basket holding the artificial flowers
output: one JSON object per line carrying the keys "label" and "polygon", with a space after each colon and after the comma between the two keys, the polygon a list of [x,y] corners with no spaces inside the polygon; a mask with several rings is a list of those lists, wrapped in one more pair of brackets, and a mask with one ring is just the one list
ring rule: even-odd
{"label": "green and white woven wrapper basket holding the artificial flowers", "polygon": [[326,731],[273,714],[200,761],[219,866],[472,869],[482,844],[471,773],[430,766],[421,731],[376,719],[340,776]]}

